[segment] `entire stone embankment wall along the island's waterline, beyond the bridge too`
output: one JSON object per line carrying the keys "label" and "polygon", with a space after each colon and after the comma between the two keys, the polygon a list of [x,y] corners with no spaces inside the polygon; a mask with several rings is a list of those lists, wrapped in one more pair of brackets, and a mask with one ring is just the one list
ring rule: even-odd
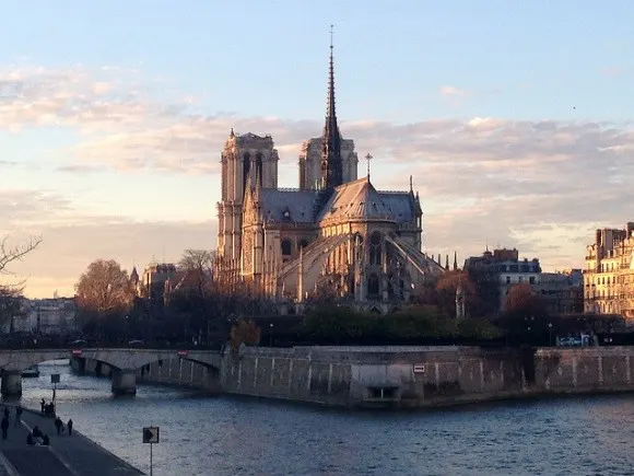
{"label": "entire stone embankment wall along the island's waterline, beyond the bridge too", "polygon": [[[85,371],[95,373],[96,362]],[[107,365],[101,373],[108,374]],[[220,369],[173,358],[137,372],[139,382],[330,406],[428,407],[552,393],[634,391],[629,347],[245,348]]]}

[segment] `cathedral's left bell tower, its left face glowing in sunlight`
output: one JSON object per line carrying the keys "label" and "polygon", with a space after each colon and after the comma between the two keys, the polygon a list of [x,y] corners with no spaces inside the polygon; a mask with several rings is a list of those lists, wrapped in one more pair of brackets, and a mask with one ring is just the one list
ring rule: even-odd
{"label": "cathedral's left bell tower, its left face glowing in sunlight", "polygon": [[278,188],[278,150],[271,136],[233,129],[221,154],[222,191],[218,204],[218,254],[222,266],[239,269],[245,191],[258,185]]}

